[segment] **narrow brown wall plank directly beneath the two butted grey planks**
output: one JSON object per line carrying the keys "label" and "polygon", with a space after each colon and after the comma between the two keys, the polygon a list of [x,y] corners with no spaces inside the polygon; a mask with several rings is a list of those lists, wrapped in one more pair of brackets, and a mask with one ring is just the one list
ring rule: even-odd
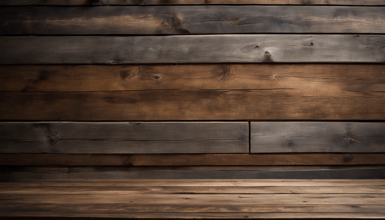
{"label": "narrow brown wall plank directly beneath the two butted grey planks", "polygon": [[0,154],[0,165],[18,166],[250,166],[365,164],[385,165],[385,154]]}

